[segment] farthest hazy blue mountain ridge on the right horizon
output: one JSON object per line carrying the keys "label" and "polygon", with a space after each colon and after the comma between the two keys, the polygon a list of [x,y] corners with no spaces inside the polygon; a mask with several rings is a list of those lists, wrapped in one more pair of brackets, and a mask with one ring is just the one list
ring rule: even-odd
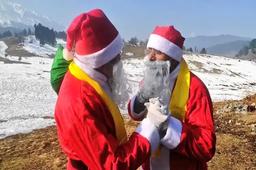
{"label": "farthest hazy blue mountain ridge on the right horizon", "polygon": [[229,42],[238,41],[238,40],[250,41],[252,40],[252,38],[239,37],[234,35],[217,35],[217,36],[201,35],[201,36],[186,38],[184,42],[184,46],[186,48],[191,47],[194,50],[195,46],[197,46],[198,49],[202,49],[203,47],[209,48],[211,46],[215,46],[218,44],[224,44],[224,43],[229,43]]}

